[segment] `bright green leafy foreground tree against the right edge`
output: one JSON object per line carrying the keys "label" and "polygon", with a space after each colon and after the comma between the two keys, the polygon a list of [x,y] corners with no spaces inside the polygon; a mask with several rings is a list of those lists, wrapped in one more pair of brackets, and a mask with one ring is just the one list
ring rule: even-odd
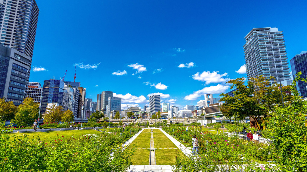
{"label": "bright green leafy foreground tree against the right edge", "polygon": [[307,171],[307,101],[302,101],[296,90],[296,82],[306,79],[300,77],[301,72],[293,80],[291,89],[294,100],[285,106],[274,106],[271,118],[267,123],[274,146],[275,161],[282,164],[285,171]]}

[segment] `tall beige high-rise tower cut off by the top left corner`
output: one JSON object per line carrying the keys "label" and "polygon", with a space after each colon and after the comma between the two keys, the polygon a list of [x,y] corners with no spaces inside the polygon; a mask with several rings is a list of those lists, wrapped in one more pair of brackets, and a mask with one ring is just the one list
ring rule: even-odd
{"label": "tall beige high-rise tower cut off by the top left corner", "polygon": [[35,0],[0,0],[0,13],[0,43],[32,58],[39,13]]}

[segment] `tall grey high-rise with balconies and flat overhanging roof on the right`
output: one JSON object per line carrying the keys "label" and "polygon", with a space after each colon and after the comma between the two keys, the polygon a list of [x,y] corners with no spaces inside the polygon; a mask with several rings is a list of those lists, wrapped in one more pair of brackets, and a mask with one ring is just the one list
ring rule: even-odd
{"label": "tall grey high-rise with balconies and flat overhanging roof on the right", "polygon": [[277,28],[253,28],[244,38],[247,79],[263,75],[274,81],[290,80],[283,31]]}

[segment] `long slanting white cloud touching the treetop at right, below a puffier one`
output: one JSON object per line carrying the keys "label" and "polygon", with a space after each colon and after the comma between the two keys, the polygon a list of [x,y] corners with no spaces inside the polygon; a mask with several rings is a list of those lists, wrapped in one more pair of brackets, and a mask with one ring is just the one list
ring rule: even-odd
{"label": "long slanting white cloud touching the treetop at right, below a puffier one", "polygon": [[222,85],[218,84],[216,86],[210,86],[210,87],[205,87],[201,90],[198,90],[196,92],[193,92],[190,95],[185,96],[185,100],[196,100],[200,96],[204,96],[204,94],[220,94],[222,92],[225,92],[228,88],[230,88],[229,85]]}

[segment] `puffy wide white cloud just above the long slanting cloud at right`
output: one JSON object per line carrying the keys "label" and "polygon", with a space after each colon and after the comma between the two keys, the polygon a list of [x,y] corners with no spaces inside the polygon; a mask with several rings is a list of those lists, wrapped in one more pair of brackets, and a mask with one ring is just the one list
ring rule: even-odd
{"label": "puffy wide white cloud just above the long slanting cloud at right", "polygon": [[200,81],[205,81],[206,84],[210,84],[210,83],[225,83],[228,80],[230,80],[230,78],[224,78],[225,76],[227,76],[227,72],[225,72],[224,74],[218,74],[219,71],[213,71],[212,73],[210,71],[204,71],[203,73],[199,73],[197,72],[196,74],[194,74],[192,76],[192,78],[194,80],[200,80]]}

